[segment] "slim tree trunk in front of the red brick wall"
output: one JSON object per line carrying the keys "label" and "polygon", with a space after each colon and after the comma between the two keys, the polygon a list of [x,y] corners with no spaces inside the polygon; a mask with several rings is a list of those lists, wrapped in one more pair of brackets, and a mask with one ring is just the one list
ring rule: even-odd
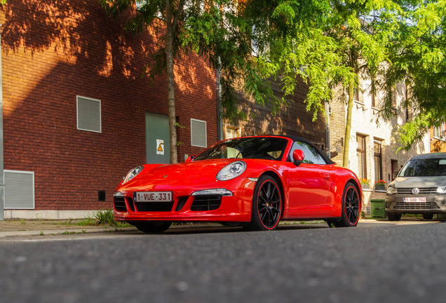
{"label": "slim tree trunk in front of the red brick wall", "polygon": [[165,45],[165,61],[167,63],[168,111],[170,135],[170,163],[177,163],[177,119],[175,114],[175,75],[173,74],[173,24],[170,1],[165,0],[165,16],[167,25],[167,41]]}

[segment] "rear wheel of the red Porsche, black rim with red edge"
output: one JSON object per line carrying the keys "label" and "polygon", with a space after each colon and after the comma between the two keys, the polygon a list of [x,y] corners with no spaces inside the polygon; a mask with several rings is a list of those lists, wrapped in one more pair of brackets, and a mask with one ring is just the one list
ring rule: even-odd
{"label": "rear wheel of the red Porsche, black rim with red edge", "polygon": [[327,220],[329,227],[356,227],[359,221],[360,198],[356,186],[348,182],[342,192],[341,220]]}

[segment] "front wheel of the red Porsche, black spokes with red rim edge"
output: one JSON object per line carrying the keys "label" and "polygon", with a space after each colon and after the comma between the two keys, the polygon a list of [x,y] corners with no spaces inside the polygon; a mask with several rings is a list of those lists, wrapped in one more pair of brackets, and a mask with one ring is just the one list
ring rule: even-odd
{"label": "front wheel of the red Porsche, black spokes with red rim edge", "polygon": [[276,229],[282,215],[282,194],[276,180],[264,175],[260,177],[252,196],[251,222],[246,229],[269,231]]}

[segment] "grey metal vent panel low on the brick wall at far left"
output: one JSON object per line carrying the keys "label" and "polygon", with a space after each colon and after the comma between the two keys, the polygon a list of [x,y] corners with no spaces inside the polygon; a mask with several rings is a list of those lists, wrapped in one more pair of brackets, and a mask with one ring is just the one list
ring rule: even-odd
{"label": "grey metal vent panel low on the brick wall at far left", "polygon": [[34,172],[5,170],[5,209],[34,209]]}

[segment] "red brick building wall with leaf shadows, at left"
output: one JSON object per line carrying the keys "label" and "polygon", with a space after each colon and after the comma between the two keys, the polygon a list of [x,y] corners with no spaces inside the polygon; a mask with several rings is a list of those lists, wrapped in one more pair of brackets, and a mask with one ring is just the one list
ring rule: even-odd
{"label": "red brick building wall with leaf shadows, at left", "polygon": [[[146,162],[145,114],[168,116],[165,76],[143,76],[156,37],[124,34],[97,0],[8,1],[0,22],[4,168],[34,172],[35,210],[111,209],[122,177]],[[203,150],[191,146],[191,118],[217,141],[216,79],[195,55],[175,73],[182,161]],[[77,95],[101,101],[101,133],[77,129]]]}

